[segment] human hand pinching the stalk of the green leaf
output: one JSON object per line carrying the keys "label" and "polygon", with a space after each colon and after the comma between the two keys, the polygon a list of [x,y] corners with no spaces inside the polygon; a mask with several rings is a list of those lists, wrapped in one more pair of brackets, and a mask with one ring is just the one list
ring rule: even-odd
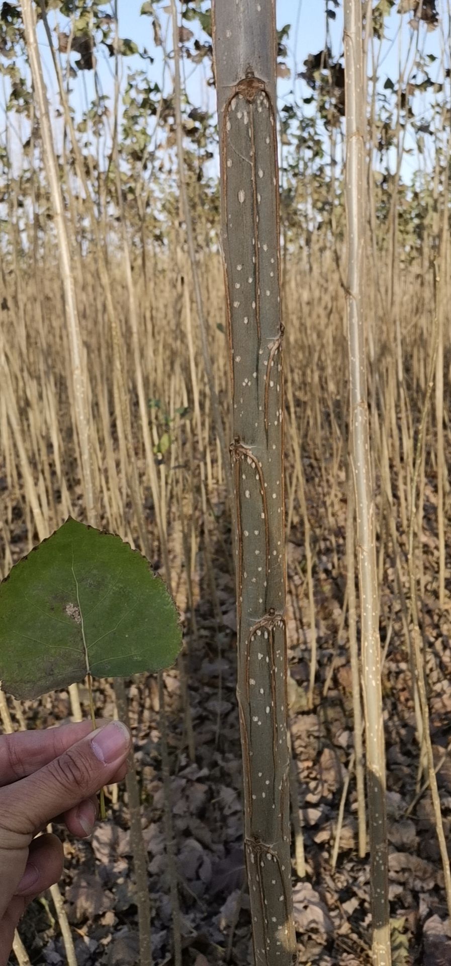
{"label": "human hand pinching the stalk of the green leaf", "polygon": [[91,835],[96,792],[126,777],[130,741],[121,722],[0,736],[0,966],[7,966],[26,906],[63,871],[60,839],[35,836],[55,820],[72,835]]}

